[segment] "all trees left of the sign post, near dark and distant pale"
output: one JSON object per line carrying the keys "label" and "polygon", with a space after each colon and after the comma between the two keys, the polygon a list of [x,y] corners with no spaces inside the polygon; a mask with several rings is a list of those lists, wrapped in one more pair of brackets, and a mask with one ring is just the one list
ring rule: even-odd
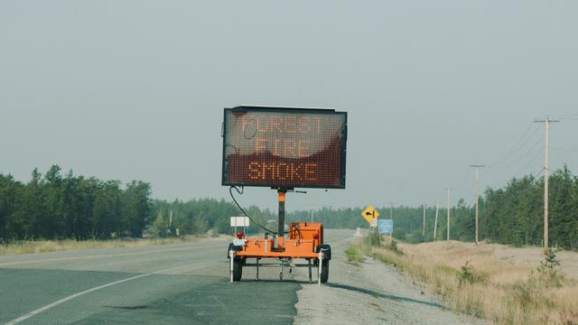
{"label": "all trees left of the sign post, near dark and distant pale", "polygon": [[[57,242],[78,246],[87,241],[82,245],[91,246],[96,240],[119,238],[230,234],[229,217],[241,215],[225,200],[169,202],[151,196],[144,181],[123,184],[71,171],[63,175],[57,165],[44,174],[34,169],[28,182],[0,172],[0,249],[24,245],[23,250],[36,251]],[[255,206],[247,212],[263,224],[275,217]],[[254,224],[248,230],[258,228]],[[30,244],[33,241],[40,243]]]}

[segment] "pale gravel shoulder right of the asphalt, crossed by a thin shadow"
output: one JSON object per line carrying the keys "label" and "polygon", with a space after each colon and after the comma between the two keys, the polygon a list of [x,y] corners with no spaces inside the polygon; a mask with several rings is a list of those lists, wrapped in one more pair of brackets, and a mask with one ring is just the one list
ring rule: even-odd
{"label": "pale gravel shoulder right of the asphalt, crossed by a thin shadow", "polygon": [[[350,233],[352,235],[352,232]],[[297,292],[294,324],[481,324],[447,311],[435,296],[382,262],[347,261],[355,237],[331,242],[329,283],[303,284]]]}

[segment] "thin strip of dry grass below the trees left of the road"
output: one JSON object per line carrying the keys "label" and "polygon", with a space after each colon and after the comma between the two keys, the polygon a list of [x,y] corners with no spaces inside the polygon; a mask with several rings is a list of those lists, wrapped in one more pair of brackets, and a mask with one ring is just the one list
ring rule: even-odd
{"label": "thin strip of dry grass below the trees left of the road", "polygon": [[190,242],[198,237],[179,238],[143,238],[143,239],[111,239],[111,240],[38,240],[13,241],[0,245],[0,256],[30,253],[46,253],[73,249],[96,249],[136,246],[156,246]]}

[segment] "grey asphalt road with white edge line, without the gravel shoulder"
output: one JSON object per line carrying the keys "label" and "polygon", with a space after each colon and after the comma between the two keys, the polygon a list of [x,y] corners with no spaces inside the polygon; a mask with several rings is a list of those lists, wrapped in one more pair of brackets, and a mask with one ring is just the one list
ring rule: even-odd
{"label": "grey asphalt road with white edge line, without the gravel shoulder", "polygon": [[[350,233],[328,232],[326,241]],[[227,239],[0,258],[0,323],[289,324],[306,277],[228,283]],[[311,284],[314,285],[314,284]]]}

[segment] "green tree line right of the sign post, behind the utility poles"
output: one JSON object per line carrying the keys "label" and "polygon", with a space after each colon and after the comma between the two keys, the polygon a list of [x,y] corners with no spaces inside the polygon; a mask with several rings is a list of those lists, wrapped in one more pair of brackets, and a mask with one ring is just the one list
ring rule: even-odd
{"label": "green tree line right of the sign post, behind the utility poles", "polygon": [[[578,177],[564,168],[549,177],[548,234],[550,246],[578,248]],[[447,209],[440,208],[436,237],[433,238],[435,207],[425,207],[425,235],[422,236],[424,207],[378,207],[379,218],[394,219],[393,236],[408,242],[444,240],[447,237]],[[362,208],[313,211],[313,219],[325,228],[368,228]],[[473,241],[474,206],[458,200],[450,211],[450,238]],[[289,220],[310,220],[311,211],[289,214]],[[513,178],[498,189],[488,188],[480,196],[480,240],[513,246],[541,246],[544,233],[544,179],[532,175]]]}

